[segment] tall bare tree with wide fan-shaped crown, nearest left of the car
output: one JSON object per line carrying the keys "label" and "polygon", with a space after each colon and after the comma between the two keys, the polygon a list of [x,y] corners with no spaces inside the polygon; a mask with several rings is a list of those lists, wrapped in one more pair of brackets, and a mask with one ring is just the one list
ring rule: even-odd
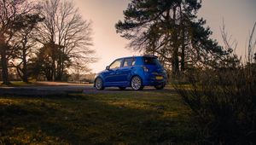
{"label": "tall bare tree with wide fan-shaped crown, nearest left of the car", "polygon": [[[44,22],[38,29],[41,44],[58,46],[61,53],[52,60],[52,79],[61,80],[67,61],[79,64],[94,61],[94,50],[90,49],[91,22],[83,20],[79,9],[72,2],[46,0],[43,3]],[[68,60],[66,59],[68,58]]]}

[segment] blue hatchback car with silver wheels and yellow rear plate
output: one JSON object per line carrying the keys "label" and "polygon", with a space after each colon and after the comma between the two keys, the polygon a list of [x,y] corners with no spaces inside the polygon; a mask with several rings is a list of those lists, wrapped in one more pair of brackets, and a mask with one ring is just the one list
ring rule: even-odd
{"label": "blue hatchback car with silver wheels and yellow rear plate", "polygon": [[119,87],[125,90],[143,90],[144,86],[154,86],[161,90],[166,86],[167,75],[156,56],[131,56],[113,61],[106,70],[96,74],[96,90],[105,87]]}

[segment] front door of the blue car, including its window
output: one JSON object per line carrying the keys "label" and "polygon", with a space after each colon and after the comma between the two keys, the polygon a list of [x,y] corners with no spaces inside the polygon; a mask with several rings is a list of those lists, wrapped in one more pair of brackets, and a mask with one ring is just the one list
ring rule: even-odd
{"label": "front door of the blue car, including its window", "polygon": [[123,59],[115,60],[108,67],[107,73],[104,73],[106,85],[115,85],[120,81],[119,68],[121,67],[122,62],[123,62]]}

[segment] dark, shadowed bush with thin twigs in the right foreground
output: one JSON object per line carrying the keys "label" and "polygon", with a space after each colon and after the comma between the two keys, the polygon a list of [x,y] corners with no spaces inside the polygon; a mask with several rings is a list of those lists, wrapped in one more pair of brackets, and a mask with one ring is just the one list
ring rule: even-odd
{"label": "dark, shadowed bush with thin twigs in the right foreground", "polygon": [[199,144],[256,144],[256,67],[194,70],[175,88],[193,113]]}

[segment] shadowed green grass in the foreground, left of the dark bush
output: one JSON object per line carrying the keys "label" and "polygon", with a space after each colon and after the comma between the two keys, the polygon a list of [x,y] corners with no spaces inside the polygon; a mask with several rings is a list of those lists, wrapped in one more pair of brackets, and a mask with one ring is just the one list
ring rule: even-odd
{"label": "shadowed green grass in the foreground, left of the dark bush", "polygon": [[0,96],[0,144],[190,144],[189,109],[171,90]]}

